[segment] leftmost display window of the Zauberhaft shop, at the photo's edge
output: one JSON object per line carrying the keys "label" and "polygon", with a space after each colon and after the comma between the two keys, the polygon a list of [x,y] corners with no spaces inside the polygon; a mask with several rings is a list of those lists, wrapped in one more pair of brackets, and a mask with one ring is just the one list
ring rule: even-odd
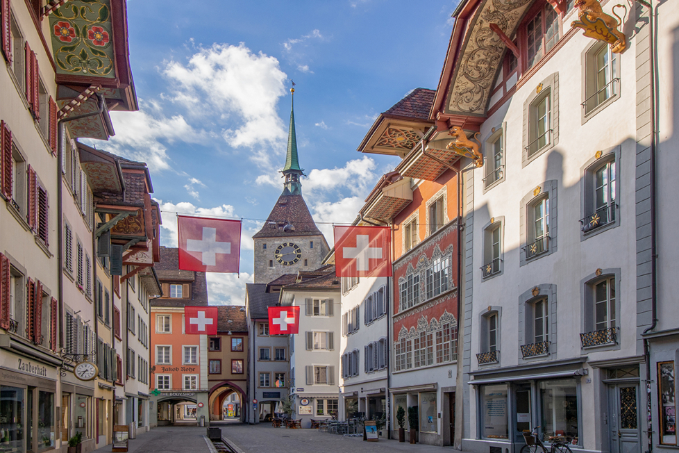
{"label": "leftmost display window of the Zauberhaft shop, at the photo's edge", "polygon": [[0,451],[24,451],[24,394],[19,387],[0,386]]}

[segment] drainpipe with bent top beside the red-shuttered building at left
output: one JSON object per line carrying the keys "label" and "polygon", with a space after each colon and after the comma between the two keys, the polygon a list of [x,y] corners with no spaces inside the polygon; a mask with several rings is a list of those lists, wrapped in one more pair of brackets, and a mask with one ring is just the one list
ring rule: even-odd
{"label": "drainpipe with bent top beside the red-shuttered building at left", "polygon": [[[57,122],[57,131],[58,131],[58,143],[57,143],[57,148],[58,148],[58,153],[57,153],[57,158],[58,158],[58,163],[57,163],[57,198],[59,202],[57,203],[57,245],[59,247],[59,260],[58,260],[58,272],[59,272],[59,278],[58,278],[58,297],[59,297],[59,327],[62,327],[64,325],[64,208],[63,208],[63,193],[64,193],[64,188],[63,188],[63,172],[64,172],[64,165],[63,165],[63,142],[64,142],[64,128],[62,124],[70,122],[70,121],[75,121],[75,120],[82,120],[83,118],[86,117],[91,117],[94,115],[101,115],[103,113],[103,109],[106,107],[106,103],[103,101],[103,96],[99,93],[95,94],[97,96],[97,102],[99,104],[99,110],[96,112],[90,112],[90,113],[84,113],[83,115],[76,115],[74,117],[68,117],[68,118],[62,118]],[[95,318],[96,319],[96,318]],[[97,324],[94,324],[95,329]],[[64,331],[63,329],[59,329],[59,344],[64,345]]]}

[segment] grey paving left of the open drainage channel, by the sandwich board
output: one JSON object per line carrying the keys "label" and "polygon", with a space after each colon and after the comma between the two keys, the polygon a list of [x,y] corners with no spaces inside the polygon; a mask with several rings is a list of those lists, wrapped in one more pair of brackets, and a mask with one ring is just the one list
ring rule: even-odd
{"label": "grey paving left of the open drainage channel, by the sandwich board", "polygon": [[[131,439],[128,452],[210,453],[210,448],[203,437],[205,434],[204,427],[157,427],[144,434],[137,434],[136,439]],[[113,445],[106,445],[94,452],[111,452],[112,447]]]}

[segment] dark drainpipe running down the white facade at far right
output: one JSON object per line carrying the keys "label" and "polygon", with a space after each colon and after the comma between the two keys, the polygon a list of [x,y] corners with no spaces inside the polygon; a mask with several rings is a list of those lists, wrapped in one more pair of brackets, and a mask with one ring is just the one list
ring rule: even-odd
{"label": "dark drainpipe running down the white facade at far right", "polygon": [[[656,49],[655,47],[656,41],[657,41],[657,35],[655,34],[655,28],[657,24],[655,24],[654,19],[655,19],[655,14],[656,11],[653,9],[653,0],[639,0],[639,3],[642,3],[642,5],[646,6],[648,8],[648,39],[650,40],[649,46],[648,46],[648,53],[649,53],[649,61],[651,64],[651,157],[650,157],[650,163],[651,163],[651,172],[649,174],[650,176],[650,183],[651,183],[651,325],[642,332],[642,336],[644,336],[645,333],[648,333],[649,331],[655,329],[657,326],[657,247],[656,247],[656,242],[657,242],[657,219],[656,219],[656,184],[655,184],[655,153],[656,153],[656,144],[657,144],[657,131],[656,131],[656,124],[657,124],[657,117],[658,117],[658,108],[657,108],[657,63],[655,61],[656,59],[656,54],[653,49]],[[644,357],[646,359],[646,388],[650,390],[651,388],[651,343],[648,341],[648,339],[644,338]],[[646,392],[646,397],[648,398],[648,390]],[[651,421],[653,420],[653,415],[651,415]],[[660,420],[658,420],[658,423],[660,423]],[[648,450],[646,450],[646,453],[651,453],[653,452],[653,423],[651,422],[651,429],[648,429]]]}

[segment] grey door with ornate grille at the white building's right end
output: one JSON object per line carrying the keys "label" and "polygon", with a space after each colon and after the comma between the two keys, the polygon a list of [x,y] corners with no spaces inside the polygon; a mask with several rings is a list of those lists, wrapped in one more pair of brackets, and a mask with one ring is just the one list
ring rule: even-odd
{"label": "grey door with ornate grille at the white building's right end", "polygon": [[641,453],[639,442],[639,384],[608,387],[611,453]]}

